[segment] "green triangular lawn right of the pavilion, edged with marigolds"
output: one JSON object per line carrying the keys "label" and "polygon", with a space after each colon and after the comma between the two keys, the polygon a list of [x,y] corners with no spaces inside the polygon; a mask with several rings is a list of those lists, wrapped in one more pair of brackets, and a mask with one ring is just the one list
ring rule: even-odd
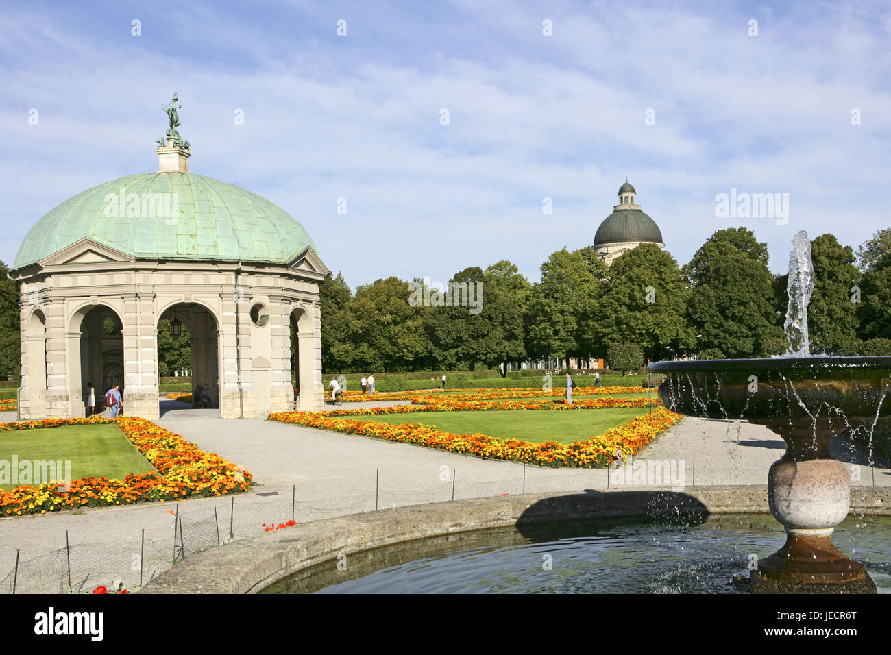
{"label": "green triangular lawn right of the pavilion, edged with marigolds", "polygon": [[454,434],[476,432],[490,437],[540,443],[558,441],[571,444],[596,437],[604,430],[614,428],[647,413],[645,408],[631,409],[577,409],[534,410],[531,412],[436,412],[388,414],[375,416],[372,421],[381,423],[423,423],[438,430]]}

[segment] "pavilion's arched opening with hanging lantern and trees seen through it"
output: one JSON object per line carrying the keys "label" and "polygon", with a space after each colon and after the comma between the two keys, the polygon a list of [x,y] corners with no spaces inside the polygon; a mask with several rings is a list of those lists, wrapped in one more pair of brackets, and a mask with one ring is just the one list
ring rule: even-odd
{"label": "pavilion's arched opening with hanging lantern and trees seen through it", "polygon": [[[157,327],[159,378],[176,378],[177,371],[188,370],[191,376],[186,380],[191,384],[192,406],[200,407],[202,399],[207,398],[208,408],[219,410],[217,317],[203,305],[176,303],[161,313]],[[207,394],[202,394],[205,387]]]}

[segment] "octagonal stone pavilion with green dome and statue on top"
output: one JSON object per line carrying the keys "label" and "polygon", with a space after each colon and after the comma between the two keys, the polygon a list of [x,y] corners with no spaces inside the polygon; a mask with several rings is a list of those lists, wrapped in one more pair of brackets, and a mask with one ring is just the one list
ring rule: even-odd
{"label": "octagonal stone pavilion with green dome and statue on top", "polygon": [[[159,417],[158,327],[185,327],[192,388],[225,418],[323,403],[319,284],[328,269],[283,209],[189,173],[176,95],[157,173],[119,177],[37,221],[19,282],[22,419],[83,416],[119,384],[124,411]],[[296,342],[296,352],[291,343]]]}

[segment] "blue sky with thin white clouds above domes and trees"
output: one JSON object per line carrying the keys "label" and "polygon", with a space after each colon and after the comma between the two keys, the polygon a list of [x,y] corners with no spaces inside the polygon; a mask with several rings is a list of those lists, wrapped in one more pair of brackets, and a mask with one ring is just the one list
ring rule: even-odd
{"label": "blue sky with thin white clouds above domes and trees", "polygon": [[[176,92],[190,172],[282,207],[354,289],[501,259],[536,282],[625,176],[680,265],[741,225],[785,272],[799,230],[891,225],[889,33],[880,2],[3,0],[0,259],[157,170]],[[732,189],[788,215],[720,216]]]}

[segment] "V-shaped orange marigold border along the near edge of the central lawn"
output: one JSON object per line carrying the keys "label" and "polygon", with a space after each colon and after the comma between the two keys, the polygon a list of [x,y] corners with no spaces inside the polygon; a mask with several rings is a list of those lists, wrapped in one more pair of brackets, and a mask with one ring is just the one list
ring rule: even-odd
{"label": "V-shaped orange marigold border along the near edge of the central lawn", "polygon": [[[571,406],[571,405],[570,405]],[[394,408],[387,408],[394,409]],[[356,413],[362,412],[357,410]],[[657,407],[651,413],[604,431],[601,435],[559,444],[546,441],[534,444],[519,439],[499,439],[485,434],[453,434],[421,423],[390,425],[374,421],[342,418],[347,412],[277,412],[269,415],[274,421],[297,423],[309,428],[336,430],[364,437],[401,441],[403,443],[440,448],[453,453],[475,454],[483,459],[526,462],[539,466],[577,466],[602,468],[616,457],[616,451],[636,454],[654,438],[681,418],[681,414]],[[379,412],[384,413],[384,412]],[[356,415],[352,413],[352,415]]]}

